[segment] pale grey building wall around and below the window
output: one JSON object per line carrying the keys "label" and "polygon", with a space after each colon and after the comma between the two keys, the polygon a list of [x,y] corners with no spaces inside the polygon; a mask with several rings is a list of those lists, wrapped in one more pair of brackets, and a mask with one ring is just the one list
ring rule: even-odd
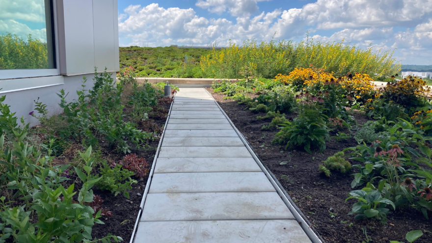
{"label": "pale grey building wall around and below the window", "polygon": [[40,97],[49,115],[60,114],[56,93],[61,89],[71,101],[78,97],[84,75],[86,88],[93,87],[94,67],[98,73],[107,68],[114,79],[119,71],[117,0],[54,0],[53,5],[57,68],[0,70],[0,96],[31,125],[38,124],[28,115],[34,111],[33,100]]}

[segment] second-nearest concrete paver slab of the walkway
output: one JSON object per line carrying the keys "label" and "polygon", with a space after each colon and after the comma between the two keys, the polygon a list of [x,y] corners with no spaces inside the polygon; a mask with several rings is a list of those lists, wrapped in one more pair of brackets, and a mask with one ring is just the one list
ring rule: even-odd
{"label": "second-nearest concrete paver slab of the walkway", "polygon": [[148,194],[141,221],[294,219],[276,192]]}

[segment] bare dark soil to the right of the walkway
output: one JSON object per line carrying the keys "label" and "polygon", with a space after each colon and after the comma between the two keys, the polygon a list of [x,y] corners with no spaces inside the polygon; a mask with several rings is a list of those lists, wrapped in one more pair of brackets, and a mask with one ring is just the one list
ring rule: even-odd
{"label": "bare dark soil to the right of the walkway", "polygon": [[[208,91],[213,93],[211,88]],[[348,215],[356,200],[345,202],[351,192],[351,173],[340,174],[332,171],[330,178],[321,175],[318,166],[333,155],[347,147],[356,146],[353,139],[337,142],[334,138],[327,142],[323,153],[315,151],[309,154],[302,149],[285,150],[284,146],[271,145],[278,129],[262,130],[270,120],[259,120],[257,116],[264,113],[244,111],[244,105],[237,105],[231,99],[224,100],[224,95],[213,94],[222,109],[234,122],[243,136],[271,170],[280,184],[285,188],[301,212],[314,226],[316,233],[327,243],[389,243],[390,241],[407,242],[405,234],[411,230],[422,230],[423,236],[415,243],[432,243],[432,219],[425,219],[421,212],[405,209],[388,214],[387,224],[382,225],[377,220],[356,221]],[[296,114],[287,114],[292,120]],[[362,114],[354,114],[355,121],[363,124],[368,118]],[[341,132],[350,133],[349,130]],[[334,136],[336,131],[332,132]],[[281,162],[288,161],[286,165]],[[352,165],[358,164],[350,161]],[[352,169],[354,170],[354,169]],[[282,179],[281,177],[284,177]],[[361,189],[361,188],[360,188]],[[365,234],[366,231],[366,234]],[[367,237],[370,241],[367,240]]]}

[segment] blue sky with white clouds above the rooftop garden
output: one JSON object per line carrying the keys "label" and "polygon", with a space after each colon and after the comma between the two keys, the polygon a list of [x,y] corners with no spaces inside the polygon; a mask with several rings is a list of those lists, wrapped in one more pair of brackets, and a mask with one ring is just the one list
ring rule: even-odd
{"label": "blue sky with white clouds above the rooftop garden", "polygon": [[121,46],[346,42],[432,64],[432,0],[118,0]]}

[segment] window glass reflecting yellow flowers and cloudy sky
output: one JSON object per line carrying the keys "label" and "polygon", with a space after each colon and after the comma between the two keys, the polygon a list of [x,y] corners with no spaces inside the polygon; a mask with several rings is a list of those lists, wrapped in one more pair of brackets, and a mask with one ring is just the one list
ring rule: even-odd
{"label": "window glass reflecting yellow flowers and cloudy sky", "polygon": [[0,73],[55,69],[53,0],[0,0]]}

